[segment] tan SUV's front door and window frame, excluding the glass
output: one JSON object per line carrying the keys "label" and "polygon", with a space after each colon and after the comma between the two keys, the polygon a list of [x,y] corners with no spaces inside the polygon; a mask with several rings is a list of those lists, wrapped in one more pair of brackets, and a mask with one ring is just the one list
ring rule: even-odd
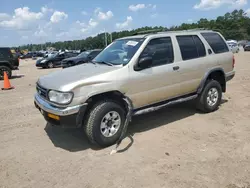
{"label": "tan SUV's front door and window frame, excluding the glass", "polygon": [[[135,71],[134,66],[139,61],[141,54],[149,42],[153,39],[168,37],[172,42],[173,62]],[[143,42],[142,46],[131,59],[132,63],[131,66],[129,66],[130,87],[127,95],[132,100],[135,109],[144,108],[178,95],[179,86],[176,83],[176,76],[178,76],[178,74],[173,70],[176,55],[177,48],[173,41],[173,35],[171,34],[150,36]]]}

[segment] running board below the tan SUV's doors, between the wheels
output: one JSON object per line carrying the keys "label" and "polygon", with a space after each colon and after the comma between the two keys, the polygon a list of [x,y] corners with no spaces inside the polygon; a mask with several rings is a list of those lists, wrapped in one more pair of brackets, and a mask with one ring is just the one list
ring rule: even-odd
{"label": "running board below the tan SUV's doors, between the wheels", "polygon": [[195,94],[195,95],[191,95],[191,96],[188,96],[188,97],[183,97],[183,98],[178,98],[178,99],[174,99],[174,100],[169,100],[169,101],[167,101],[164,104],[155,105],[155,106],[151,106],[151,107],[148,107],[148,108],[144,108],[144,109],[135,111],[133,115],[137,116],[137,115],[141,115],[141,114],[153,112],[153,111],[159,110],[161,108],[165,108],[165,107],[173,105],[173,104],[177,104],[177,103],[182,103],[182,102],[193,100],[193,99],[197,98],[197,96],[198,95]]}

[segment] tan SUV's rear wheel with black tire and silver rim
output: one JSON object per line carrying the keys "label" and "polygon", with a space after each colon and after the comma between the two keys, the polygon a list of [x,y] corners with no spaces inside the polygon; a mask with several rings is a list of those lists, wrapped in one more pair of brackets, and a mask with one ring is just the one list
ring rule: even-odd
{"label": "tan SUV's rear wheel with black tire and silver rim", "polygon": [[[214,93],[214,95],[210,95],[211,93]],[[202,93],[197,98],[197,109],[205,113],[214,112],[221,104],[221,99],[222,88],[220,83],[216,80],[208,80]]]}

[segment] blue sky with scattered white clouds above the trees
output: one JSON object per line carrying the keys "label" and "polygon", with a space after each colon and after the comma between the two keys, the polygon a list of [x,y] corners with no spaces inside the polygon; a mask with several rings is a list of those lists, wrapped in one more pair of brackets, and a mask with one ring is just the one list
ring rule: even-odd
{"label": "blue sky with scattered white clouds above the trees", "polygon": [[172,26],[223,15],[248,0],[1,0],[0,46],[83,39],[142,26]]}

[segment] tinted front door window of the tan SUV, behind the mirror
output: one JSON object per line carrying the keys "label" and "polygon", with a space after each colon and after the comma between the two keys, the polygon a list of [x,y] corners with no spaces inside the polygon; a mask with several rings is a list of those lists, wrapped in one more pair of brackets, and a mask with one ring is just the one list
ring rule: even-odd
{"label": "tinted front door window of the tan SUV, behind the mirror", "polygon": [[171,38],[152,39],[141,54],[141,57],[146,56],[153,58],[153,66],[172,63],[174,53]]}

